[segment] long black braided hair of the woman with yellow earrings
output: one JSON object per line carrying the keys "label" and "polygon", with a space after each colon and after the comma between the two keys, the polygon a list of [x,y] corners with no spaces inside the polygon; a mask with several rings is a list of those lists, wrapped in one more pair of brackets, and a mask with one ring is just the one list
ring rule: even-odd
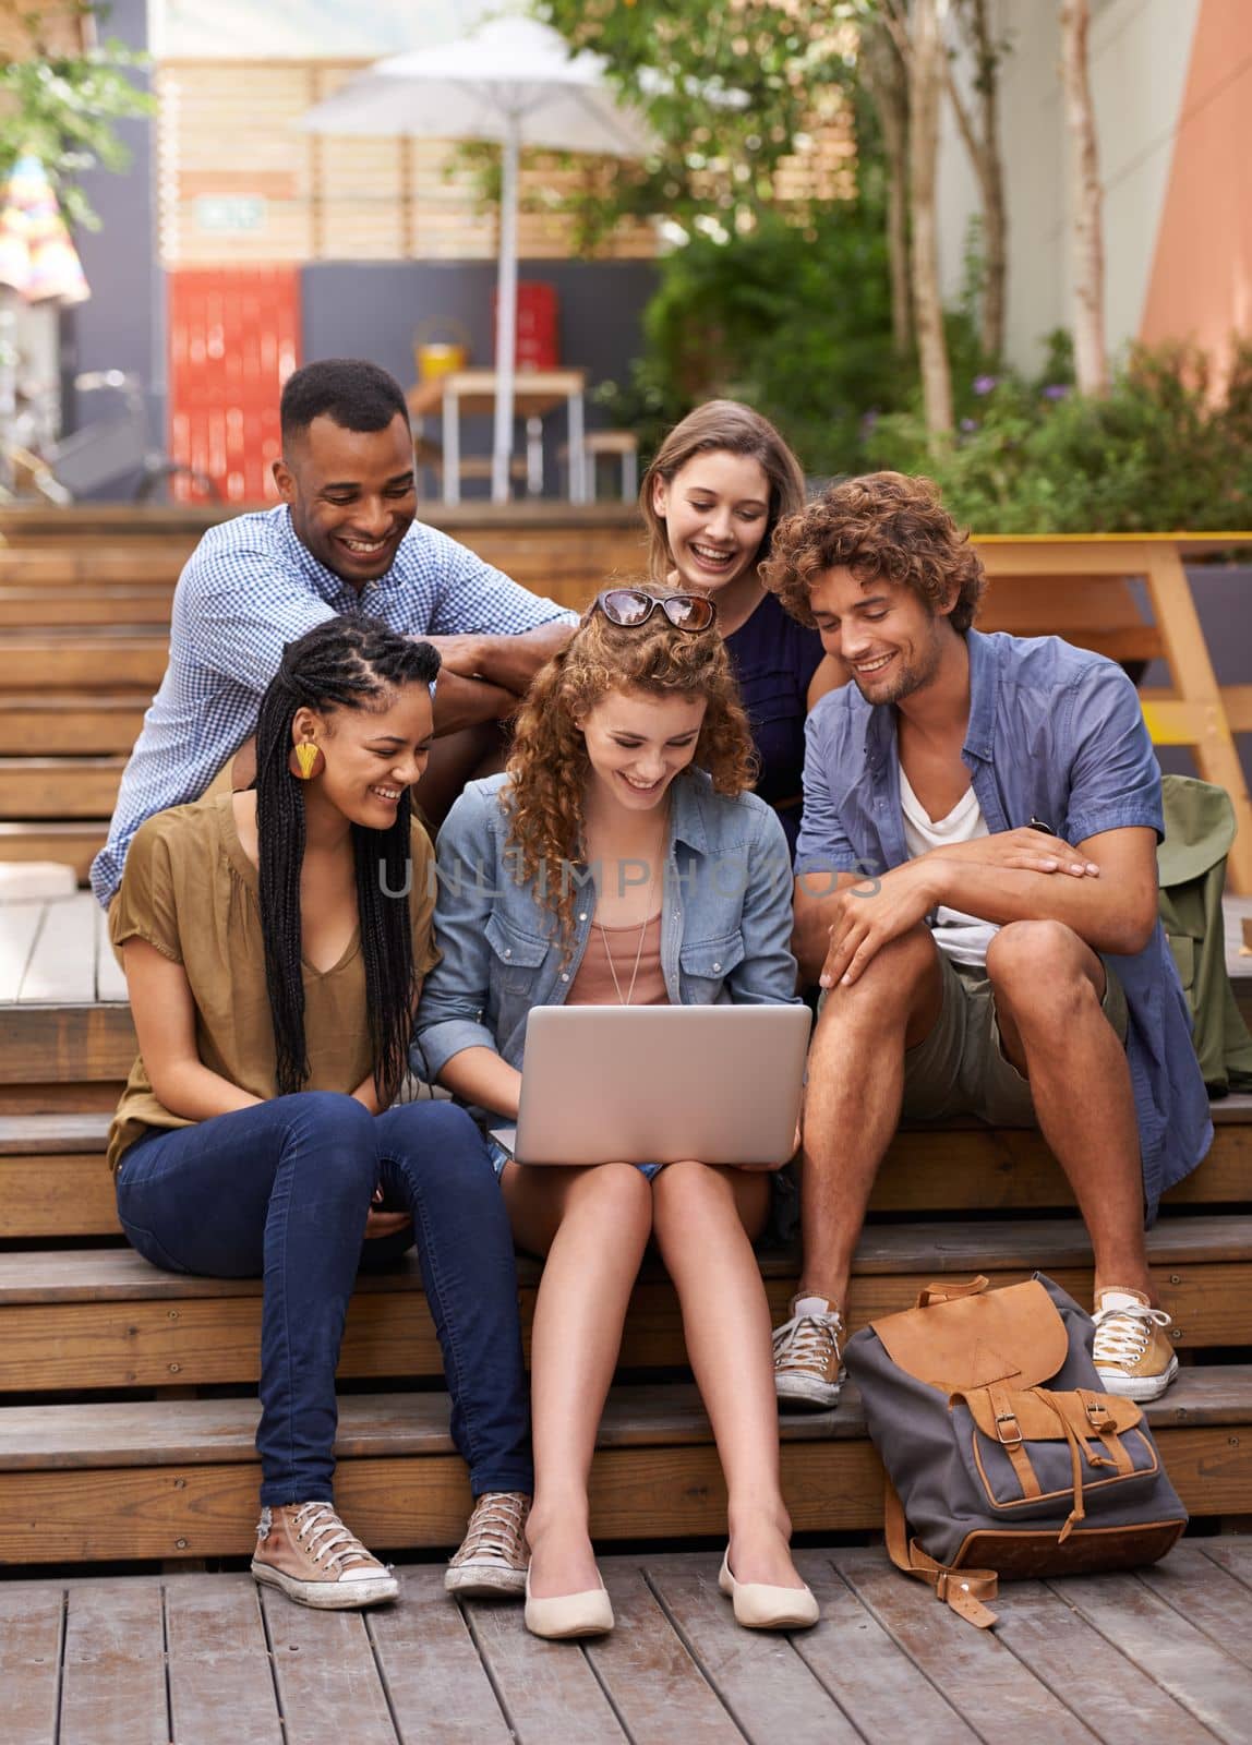
{"label": "long black braided hair of the woman with yellow earrings", "polygon": [[[262,698],[256,721],[256,836],[265,988],[274,1021],[279,1096],[300,1091],[310,1070],[300,923],[305,799],[303,782],[288,768],[291,722],[298,708],[328,714],[385,707],[391,693],[406,684],[431,684],[438,672],[439,654],[429,642],[415,642],[368,619],[328,618],[286,644],[282,665]],[[370,1056],[382,1108],[399,1091],[413,1024],[410,820],[405,790],[385,831],[352,825]]]}

